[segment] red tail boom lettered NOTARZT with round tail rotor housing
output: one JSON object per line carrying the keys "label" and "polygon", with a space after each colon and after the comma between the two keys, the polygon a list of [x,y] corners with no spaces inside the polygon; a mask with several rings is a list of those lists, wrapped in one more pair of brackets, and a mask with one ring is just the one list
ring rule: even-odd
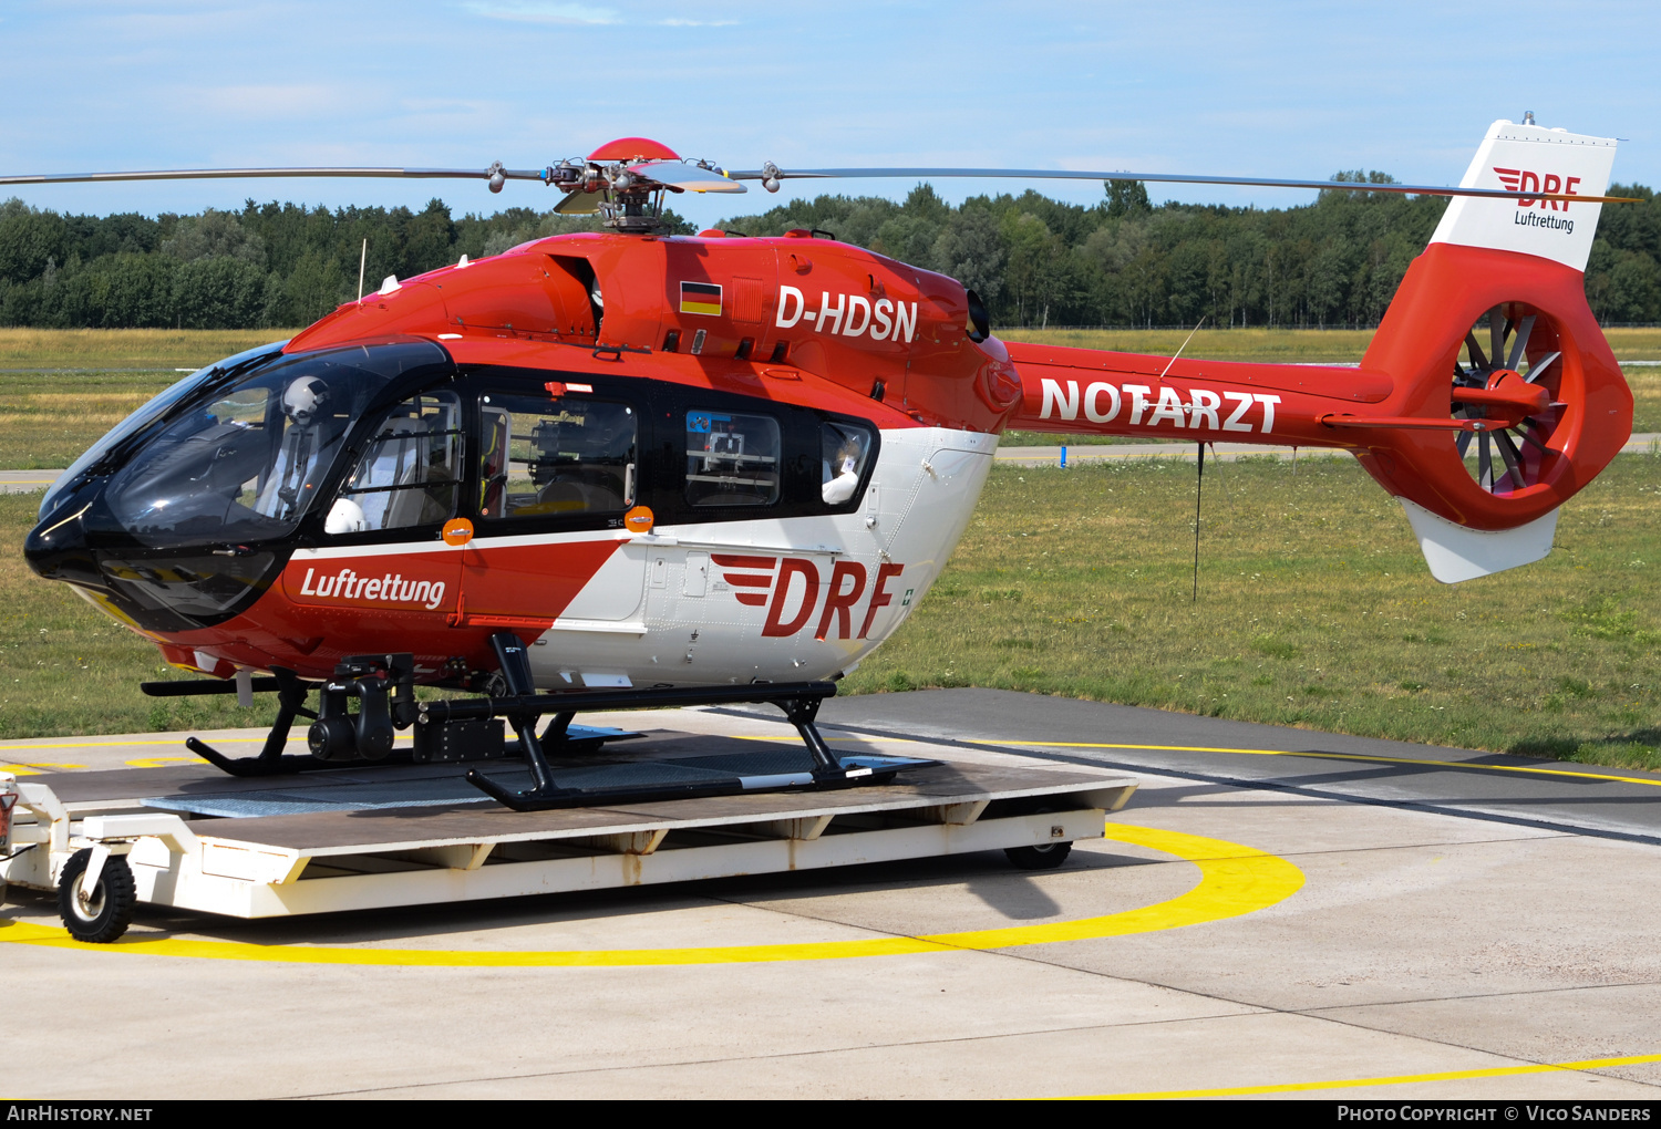
{"label": "red tail boom lettered NOTARZT with round tail rotor housing", "polygon": [[[1512,367],[1473,382],[1455,374],[1483,317],[1503,319],[1495,340],[1520,344]],[[1555,511],[1610,465],[1633,422],[1580,271],[1452,242],[1414,261],[1359,369],[1008,350],[1022,377],[1012,428],[1349,450],[1392,495],[1485,531]],[[1495,440],[1483,465],[1500,470],[1473,478],[1472,437],[1507,428],[1520,440]]]}

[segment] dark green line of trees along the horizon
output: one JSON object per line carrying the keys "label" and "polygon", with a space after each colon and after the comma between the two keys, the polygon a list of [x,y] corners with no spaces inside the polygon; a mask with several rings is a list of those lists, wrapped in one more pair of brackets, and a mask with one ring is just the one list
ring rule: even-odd
{"label": "dark green line of trees along the horizon", "polygon": [[[1384,173],[1334,179],[1392,183]],[[1297,208],[1154,208],[1134,181],[1108,181],[1095,206],[1035,191],[962,206],[928,184],[904,203],[799,199],[719,226],[751,236],[792,227],[962,279],[997,325],[1377,325],[1445,199],[1324,191]],[[1603,209],[1586,294],[1605,324],[1661,322],[1661,198]],[[693,227],[673,213],[674,231]],[[0,324],[254,329],[306,325],[365,284],[593,229],[590,217],[510,208],[452,216],[409,208],[256,204],[194,216],[70,216],[0,204]]]}

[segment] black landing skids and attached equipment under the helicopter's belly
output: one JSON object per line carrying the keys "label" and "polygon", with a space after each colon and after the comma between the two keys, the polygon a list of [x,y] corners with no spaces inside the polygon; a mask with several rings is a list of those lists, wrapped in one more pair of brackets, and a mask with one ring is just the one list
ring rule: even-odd
{"label": "black landing skids and attached equipment under the helicopter's belly", "polygon": [[[272,667],[271,677],[251,677],[246,671],[234,681],[214,682],[143,682],[141,689],[156,697],[188,694],[239,694],[244,704],[254,692],[277,694],[277,719],[256,757],[231,759],[198,737],[184,745],[221,772],[236,777],[274,777],[319,772],[367,764],[427,764],[502,760],[517,757],[530,770],[530,787],[515,789],[495,775],[472,770],[467,780],[518,810],[581,807],[620,800],[671,799],[686,795],[723,795],[734,790],[769,787],[847,787],[875,784],[912,762],[864,759],[844,762],[819,734],[814,719],[819,704],[835,694],[834,682],[756,682],[746,686],[704,686],[668,689],[608,689],[591,692],[538,694],[532,679],[525,644],[510,631],[490,639],[498,672],[472,677],[492,692],[467,699],[415,699],[414,659],[409,654],[354,656],[336,666],[334,677],[309,684],[292,671]],[[309,694],[319,696],[317,711],[306,707]],[[357,709],[352,711],[352,702]],[[651,709],[673,706],[718,706],[736,702],[772,702],[796,727],[811,759],[801,772],[761,774],[754,779],[686,779],[676,774],[610,774],[608,785],[595,782],[596,774],[573,777],[555,774],[550,757],[581,757],[600,752],[606,742],[639,737],[623,729],[575,726],[583,711]],[[548,722],[538,734],[541,719]],[[312,719],[307,732],[309,755],[286,755],[284,745],[297,717]],[[517,740],[505,739],[512,726]],[[414,727],[414,749],[394,750],[394,731]],[[927,764],[927,762],[915,762]]]}

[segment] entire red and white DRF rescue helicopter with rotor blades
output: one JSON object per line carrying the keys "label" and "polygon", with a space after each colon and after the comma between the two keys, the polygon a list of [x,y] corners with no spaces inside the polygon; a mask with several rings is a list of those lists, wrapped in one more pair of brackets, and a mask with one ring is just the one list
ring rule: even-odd
{"label": "entire red and white DRF rescue helicopter with rotor blades", "polygon": [[[537,179],[605,234],[389,277],[287,342],[181,380],[47,493],[25,553],[178,667],[151,692],[276,691],[236,774],[522,755],[517,809],[615,800],[548,759],[615,731],[578,711],[771,701],[811,772],[653,794],[829,785],[834,679],[910,614],[1008,427],[1350,450],[1402,500],[1432,573],[1551,548],[1558,506],[1619,452],[1633,400],[1583,271],[1614,141],[1497,121],[1460,188],[1043,169],[723,171],[625,138],[505,169],[204,176]],[[1005,344],[940,274],[792,231],[664,234],[666,193],[837,176],[1153,179],[1452,196],[1360,369]],[[1475,443],[1475,473],[1465,453]],[[254,677],[261,672],[261,677]],[[419,701],[417,686],[467,691]],[[319,707],[306,707],[309,694]],[[355,706],[354,706],[355,701]],[[297,716],[311,755],[284,755]],[[538,732],[540,719],[551,716]],[[503,742],[502,721],[517,742]],[[635,789],[638,790],[638,789]]]}

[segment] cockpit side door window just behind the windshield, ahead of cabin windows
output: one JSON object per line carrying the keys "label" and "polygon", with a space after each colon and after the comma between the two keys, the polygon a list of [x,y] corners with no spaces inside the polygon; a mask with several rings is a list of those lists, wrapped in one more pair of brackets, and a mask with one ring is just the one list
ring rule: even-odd
{"label": "cockpit side door window just behind the windshield, ahead of cabin windows", "polygon": [[439,525],[455,515],[462,468],[462,402],[427,392],[394,407],[329,508],[326,533]]}

